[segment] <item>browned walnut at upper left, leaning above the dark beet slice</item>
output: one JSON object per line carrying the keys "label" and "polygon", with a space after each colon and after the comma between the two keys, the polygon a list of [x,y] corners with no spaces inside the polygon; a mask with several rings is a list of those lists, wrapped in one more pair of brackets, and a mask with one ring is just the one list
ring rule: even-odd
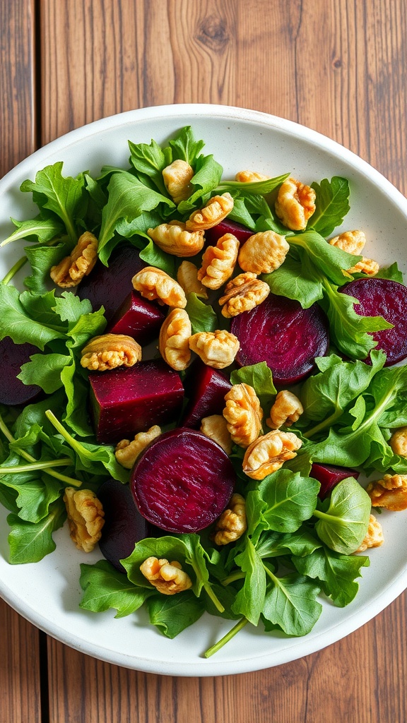
{"label": "browned walnut at upper left, leaning above the dark beet slice", "polygon": [[79,237],[70,256],[64,257],[56,266],[52,266],[50,275],[56,286],[70,288],[77,286],[84,276],[88,276],[98,260],[98,239],[85,231]]}

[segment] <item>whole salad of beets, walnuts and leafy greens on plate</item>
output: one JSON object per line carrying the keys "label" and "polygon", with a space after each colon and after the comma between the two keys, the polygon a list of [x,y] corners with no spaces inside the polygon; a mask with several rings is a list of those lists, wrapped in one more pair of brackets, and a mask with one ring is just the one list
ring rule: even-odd
{"label": "whole salad of beets, walnuts and leafy greens on plate", "polygon": [[[344,250],[349,238],[344,241],[342,235],[342,241],[332,242],[349,209],[346,179],[323,179],[311,187],[298,181],[291,194],[290,184],[296,182],[289,171],[272,178],[239,174],[240,180],[225,180],[222,167],[202,153],[204,142],[193,137],[190,127],[180,129],[165,147],[154,141],[129,142],[129,147],[129,168],[105,166],[97,178],[86,171],[66,177],[62,162],[38,171],[34,181],[21,187],[33,194],[38,214],[13,220],[16,230],[1,244],[30,242],[0,285],[3,353],[16,359],[22,352],[18,368],[4,376],[0,408],[0,501],[10,512],[9,561],[36,562],[52,552],[52,534],[67,512],[71,531],[82,529],[83,520],[88,528],[97,526],[99,518],[101,525],[105,521],[98,532],[106,559],[81,566],[81,607],[94,612],[112,607],[120,617],[146,605],[151,623],[169,638],[205,611],[235,621],[229,635],[206,651],[208,656],[248,623],[288,636],[306,635],[322,612],[322,596],[343,607],[357,594],[356,580],[369,558],[354,553],[364,544],[367,549],[382,542],[374,533],[379,523],[372,523],[372,502],[389,509],[407,506],[406,367],[393,366],[407,356],[400,314],[406,308],[403,280],[396,264],[376,268],[354,249]],[[180,161],[178,167],[191,170],[179,194],[165,172]],[[281,189],[290,203],[294,199],[311,210],[300,228],[290,228]],[[216,205],[220,215],[212,213]],[[180,232],[175,236],[176,228]],[[198,247],[187,249],[197,231]],[[131,254],[135,262],[125,284],[115,269]],[[270,257],[273,268],[267,266]],[[20,292],[12,281],[27,263],[30,271]],[[221,274],[219,286],[211,281],[211,267],[230,271],[226,277]],[[156,275],[153,286],[146,269]],[[195,274],[193,287],[182,269]],[[110,295],[109,278],[114,279]],[[182,296],[169,303],[168,294],[157,294],[160,278],[174,282],[171,292],[180,286],[185,303]],[[149,329],[152,336],[147,333],[136,342],[135,361],[128,369],[137,375],[144,370],[154,390],[138,403],[138,422],[127,427],[127,436],[143,435],[154,424],[159,432],[141,448],[134,466],[126,466],[117,454],[126,437],[119,427],[126,419],[112,424],[99,387],[109,378],[125,379],[128,341],[125,348],[112,348],[112,338],[109,348],[92,344],[95,338],[117,336],[112,329],[128,310],[131,294],[144,304],[144,312],[148,302],[143,333]],[[271,334],[276,305],[279,325]],[[182,313],[170,319],[177,333],[168,335],[174,311]],[[138,307],[138,320],[141,313]],[[273,348],[262,346],[265,338],[274,340]],[[229,351],[230,343],[235,344],[232,356],[229,351],[225,356],[225,340]],[[220,346],[220,361],[211,346]],[[122,364],[113,369],[109,365],[117,356]],[[267,363],[269,358],[275,364]],[[157,383],[159,372],[163,376]],[[112,382],[109,393],[117,386]],[[150,419],[157,387],[164,389],[165,414],[156,406]],[[211,402],[219,402],[219,389],[221,403],[214,411],[205,392],[209,390]],[[229,402],[234,410],[244,406],[245,393],[251,395],[245,411],[254,417],[253,439],[251,429],[241,437],[235,418],[223,413]],[[293,398],[295,410],[276,421]],[[207,427],[206,434],[199,431],[202,419],[213,416],[226,423],[221,424],[229,435],[226,451],[217,432],[208,433]],[[127,441],[122,449],[130,447]],[[282,445],[280,453],[271,454],[270,445],[276,443]],[[254,466],[253,454],[248,454],[252,445],[260,445]],[[206,469],[199,494],[207,483],[211,505],[217,505],[209,510],[204,497],[188,521],[177,494],[167,502],[164,516],[147,494],[152,469],[158,489],[168,494],[167,474],[161,469],[172,457],[178,459],[180,450],[188,464],[193,457],[194,480],[209,455],[215,471],[217,463],[227,471],[222,479],[229,482],[221,494],[215,489],[217,475]],[[370,494],[356,481],[360,473],[375,478]],[[84,507],[70,509],[75,493],[83,491]],[[123,491],[130,499],[126,512],[118,497]],[[101,508],[104,514],[96,514]],[[89,509],[93,519],[86,519]],[[120,510],[119,515],[130,510],[133,518],[143,511],[131,551],[119,558],[112,523],[106,535],[109,510]],[[78,512],[80,520],[75,521]],[[225,518],[239,522],[239,535]],[[225,523],[220,528],[219,519]],[[230,537],[226,543],[225,532]],[[140,568],[147,560],[166,562],[158,569],[151,562],[146,575]],[[167,563],[169,580],[161,577]],[[181,581],[181,589],[167,594],[167,586],[163,594],[163,585],[165,589],[165,583],[174,581]]]}

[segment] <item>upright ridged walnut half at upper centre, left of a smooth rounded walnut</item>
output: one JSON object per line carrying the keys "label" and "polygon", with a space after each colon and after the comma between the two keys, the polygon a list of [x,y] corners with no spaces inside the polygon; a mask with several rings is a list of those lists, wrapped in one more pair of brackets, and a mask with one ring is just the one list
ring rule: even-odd
{"label": "upright ridged walnut half at upper centre, left of a smooth rounded walnut", "polygon": [[235,269],[238,250],[239,241],[233,234],[224,234],[217,240],[216,246],[208,246],[202,256],[198,281],[208,288],[220,288]]}

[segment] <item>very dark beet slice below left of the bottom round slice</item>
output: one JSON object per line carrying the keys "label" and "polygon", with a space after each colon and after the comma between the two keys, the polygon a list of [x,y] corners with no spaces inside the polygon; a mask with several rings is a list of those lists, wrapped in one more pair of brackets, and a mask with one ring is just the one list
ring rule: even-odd
{"label": "very dark beet slice below left of the bottom round slice", "polygon": [[140,515],[128,484],[108,479],[98,489],[98,499],[104,508],[104,526],[99,547],[106,560],[125,573],[120,560],[133,552],[136,542],[156,537],[157,529]]}

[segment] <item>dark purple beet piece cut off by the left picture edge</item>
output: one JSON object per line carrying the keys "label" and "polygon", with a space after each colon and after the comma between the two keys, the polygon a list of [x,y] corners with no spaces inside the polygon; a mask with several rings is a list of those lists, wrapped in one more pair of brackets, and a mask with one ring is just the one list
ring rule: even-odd
{"label": "dark purple beet piece cut off by the left picture edge", "polygon": [[9,336],[0,341],[0,404],[28,404],[41,394],[36,384],[23,384],[17,379],[22,364],[30,361],[32,354],[41,354],[33,344],[15,344]]}

